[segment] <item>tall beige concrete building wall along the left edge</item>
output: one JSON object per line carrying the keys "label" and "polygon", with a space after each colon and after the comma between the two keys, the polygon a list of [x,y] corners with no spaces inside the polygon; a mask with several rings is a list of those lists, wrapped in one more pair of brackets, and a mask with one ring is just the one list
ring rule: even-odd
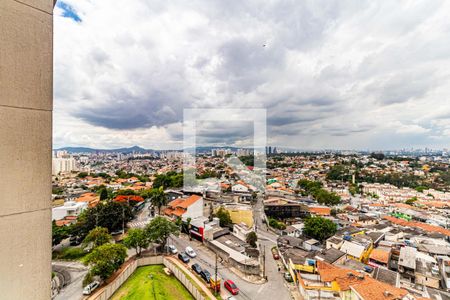
{"label": "tall beige concrete building wall along the left edge", "polygon": [[0,1],[0,291],[49,299],[53,1]]}

